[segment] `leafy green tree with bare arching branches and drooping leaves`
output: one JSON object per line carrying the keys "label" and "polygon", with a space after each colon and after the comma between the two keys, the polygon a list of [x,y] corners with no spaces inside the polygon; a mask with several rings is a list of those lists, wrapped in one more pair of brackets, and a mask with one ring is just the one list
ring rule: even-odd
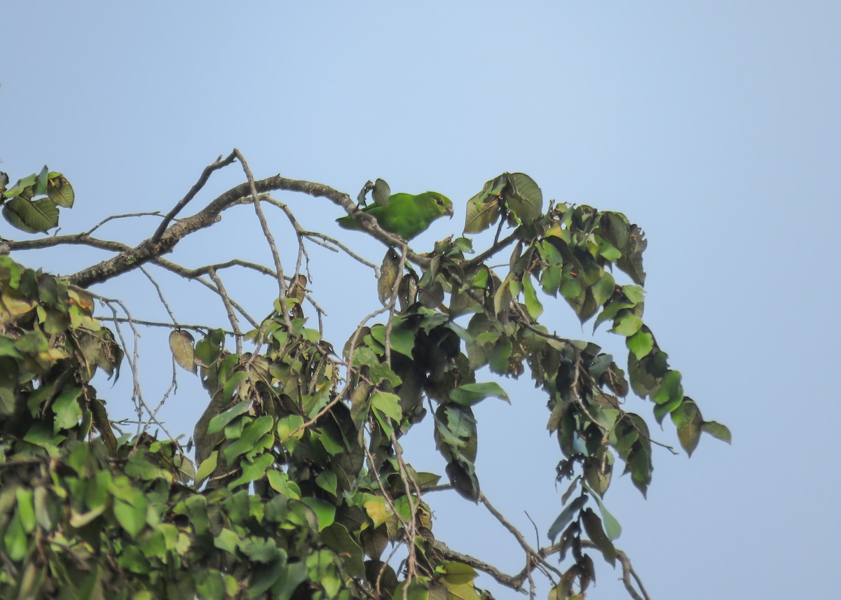
{"label": "leafy green tree with bare arching branches and drooping leaves", "polygon": [[[235,160],[248,182],[176,220],[212,172]],[[8,178],[0,182],[3,215],[27,232],[55,227],[57,207],[72,204],[70,184],[47,169],[10,189]],[[465,235],[419,255],[373,219],[360,221],[389,246],[373,267],[371,297],[381,306],[334,346],[320,329],[309,272],[299,260],[284,273],[261,205],[287,214],[302,251],[312,242],[347,249],[303,229],[268,195],[276,190],[355,211],[350,197],[321,184],[255,181],[235,150],[135,247],[90,232],[3,241],[4,254],[82,243],[115,255],[58,277],[0,256],[0,596],[480,598],[490,596],[473,584],[479,571],[519,590],[539,569],[552,582],[549,597],[573,598],[595,579],[596,552],[620,561],[629,594],[646,597],[603,502],[617,464],[643,495],[652,482],[653,440],[646,419],[627,410],[628,392],[651,401],[658,423],[669,417],[688,454],[702,433],[729,440],[729,432],[702,418],[643,322],[642,229],[620,213],[547,204],[522,173],[496,177],[468,201],[466,234],[496,228],[478,253]],[[242,203],[254,205],[274,257],[273,269],[251,266],[278,281],[262,320],[225,291],[216,272],[224,266],[188,271],[162,258]],[[503,252],[507,264],[489,266]],[[119,376],[125,343],[116,324],[109,329],[94,317],[96,300],[114,302],[86,288],[142,264],[209,276],[203,281],[230,316],[230,334],[209,324],[198,340],[172,324],[174,360],[208,393],[194,460],[176,439],[145,429],[119,434],[91,384],[98,370]],[[617,281],[620,273],[627,282]],[[598,345],[541,324],[559,300],[582,324],[595,318],[625,339],[627,376]],[[250,330],[241,330],[243,320]],[[129,355],[125,361],[134,371]],[[526,373],[546,399],[547,429],[560,447],[558,481],[569,488],[547,524],[550,544],[535,549],[520,536],[525,566],[506,575],[439,539],[458,544],[459,532],[433,533],[425,497],[452,489],[505,522],[476,475],[473,407],[488,398],[510,402],[500,382]],[[154,423],[145,403],[133,400]],[[445,484],[415,471],[400,446],[425,418],[447,462]],[[400,547],[405,559],[397,562]]]}

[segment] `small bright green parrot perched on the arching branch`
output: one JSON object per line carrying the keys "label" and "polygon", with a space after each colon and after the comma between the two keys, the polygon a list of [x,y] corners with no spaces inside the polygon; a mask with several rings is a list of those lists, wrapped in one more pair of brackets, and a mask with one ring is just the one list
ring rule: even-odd
{"label": "small bright green parrot perched on the arching branch", "polygon": [[[372,214],[386,231],[409,240],[426,231],[436,218],[445,214],[452,218],[452,200],[438,192],[398,193],[389,196],[386,206],[370,204],[362,212]],[[344,229],[362,229],[350,214],[337,218],[336,222]]]}

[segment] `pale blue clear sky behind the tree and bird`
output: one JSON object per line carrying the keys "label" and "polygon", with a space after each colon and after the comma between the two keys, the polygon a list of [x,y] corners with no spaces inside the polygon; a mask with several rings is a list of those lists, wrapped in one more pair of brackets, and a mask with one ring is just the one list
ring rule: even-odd
{"label": "pale blue clear sky behind the tree and bird", "polygon": [[[646,321],[733,446],[705,436],[691,459],[656,451],[648,500],[617,476],[605,498],[624,529],[617,545],[653,598],[837,596],[841,4],[4,0],[0,13],[0,170],[14,181],[47,164],[70,179],[77,204],[61,213],[61,233],[114,213],[166,213],[234,147],[258,178],[280,172],[355,196],[383,177],[395,192],[446,193],[456,218],[415,239],[421,251],[460,233],[468,197],[502,171],[528,173],[547,199],[626,213],[648,236]],[[184,214],[241,181],[228,167]],[[381,245],[336,227],[331,203],[278,197],[305,226],[382,259]],[[290,229],[270,213],[294,261]],[[136,243],[157,224],[98,234]],[[4,222],[0,235],[26,237]],[[312,255],[328,339],[341,347],[376,305],[375,282],[345,257]],[[13,256],[58,273],[107,257]],[[248,207],[170,258],[271,262]],[[217,298],[152,271],[181,322],[225,325]],[[267,313],[271,282],[224,276]],[[136,318],[166,318],[140,273],[93,289],[123,297]],[[565,304],[544,304],[559,334],[588,336]],[[172,367],[165,336],[143,334],[156,403]],[[624,357],[610,335],[597,341]],[[162,414],[189,435],[207,397],[178,377]],[[113,417],[130,414],[129,380],[124,368],[116,387],[98,384]],[[480,481],[534,539],[528,513],[545,544],[566,487],[554,484],[560,452],[541,394],[503,384],[511,406],[476,408]],[[650,404],[628,405],[650,418]],[[653,431],[676,446],[665,424]],[[443,473],[425,425],[406,439],[407,458]],[[429,500],[439,539],[521,569],[493,519],[454,494]],[[620,572],[594,560],[588,597],[623,597]]]}

